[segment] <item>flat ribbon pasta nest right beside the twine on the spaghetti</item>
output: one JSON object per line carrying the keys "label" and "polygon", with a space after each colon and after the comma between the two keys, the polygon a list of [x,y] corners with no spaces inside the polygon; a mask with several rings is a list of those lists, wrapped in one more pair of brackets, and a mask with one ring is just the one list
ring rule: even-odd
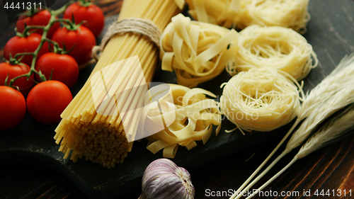
{"label": "flat ribbon pasta nest right beside the twine on the spaghetti", "polygon": [[215,78],[236,54],[236,30],[190,21],[178,14],[161,36],[162,69],[177,75],[177,83],[195,87]]}

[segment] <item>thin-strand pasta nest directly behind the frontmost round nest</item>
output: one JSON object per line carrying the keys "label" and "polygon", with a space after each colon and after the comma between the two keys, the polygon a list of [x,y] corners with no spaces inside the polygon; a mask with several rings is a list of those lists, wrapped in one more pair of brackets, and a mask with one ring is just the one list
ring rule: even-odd
{"label": "thin-strand pasta nest directly behind the frontmost round nest", "polygon": [[252,67],[270,67],[299,81],[318,64],[312,45],[290,28],[251,25],[241,30],[238,45],[236,64],[227,66],[231,75]]}

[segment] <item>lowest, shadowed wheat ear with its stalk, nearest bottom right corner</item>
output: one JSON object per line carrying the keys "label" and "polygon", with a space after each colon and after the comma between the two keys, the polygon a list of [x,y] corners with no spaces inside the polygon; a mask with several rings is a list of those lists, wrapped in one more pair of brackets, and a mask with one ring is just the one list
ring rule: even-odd
{"label": "lowest, shadowed wheat ear with its stalk, nearest bottom right corner", "polygon": [[[266,186],[268,186],[271,182],[273,182],[278,176],[280,176],[284,171],[286,171],[292,164],[295,163],[298,159],[302,159],[306,157],[308,154],[324,147],[328,144],[336,142],[341,138],[350,135],[354,130],[354,104],[350,105],[348,108],[343,110],[343,112],[331,118],[329,123],[326,123],[323,127],[320,128],[312,137],[307,140],[299,149],[299,152],[295,155],[294,159],[290,161],[287,166],[285,166],[282,170],[275,174],[272,178],[269,179],[266,183],[263,184],[260,188],[257,189],[255,193],[259,193]],[[248,198],[252,198],[254,195],[250,195]],[[246,198],[247,199],[247,198]]]}

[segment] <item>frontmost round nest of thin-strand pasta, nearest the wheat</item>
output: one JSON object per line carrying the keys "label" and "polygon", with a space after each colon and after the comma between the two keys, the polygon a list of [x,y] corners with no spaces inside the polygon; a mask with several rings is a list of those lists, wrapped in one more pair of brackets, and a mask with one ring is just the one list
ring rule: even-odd
{"label": "frontmost round nest of thin-strand pasta, nearest the wheat", "polygon": [[301,86],[276,69],[249,69],[222,86],[220,109],[241,131],[275,130],[290,123],[300,108]]}

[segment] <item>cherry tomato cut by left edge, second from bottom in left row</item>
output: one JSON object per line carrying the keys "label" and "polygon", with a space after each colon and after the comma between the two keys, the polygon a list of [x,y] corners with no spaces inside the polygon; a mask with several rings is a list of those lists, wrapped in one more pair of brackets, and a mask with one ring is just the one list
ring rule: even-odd
{"label": "cherry tomato cut by left edge, second from bottom in left row", "polygon": [[[6,76],[8,76],[7,84],[10,82],[11,79],[15,78],[16,76],[20,76],[22,74],[26,74],[30,71],[30,67],[27,64],[21,65],[11,65],[6,62],[0,63],[0,86],[4,86]],[[23,96],[27,96],[30,92],[30,89],[35,85],[33,81],[34,75],[30,76],[30,79],[27,80],[25,76],[21,77],[20,79],[16,79],[13,82],[13,86],[18,86]]]}

